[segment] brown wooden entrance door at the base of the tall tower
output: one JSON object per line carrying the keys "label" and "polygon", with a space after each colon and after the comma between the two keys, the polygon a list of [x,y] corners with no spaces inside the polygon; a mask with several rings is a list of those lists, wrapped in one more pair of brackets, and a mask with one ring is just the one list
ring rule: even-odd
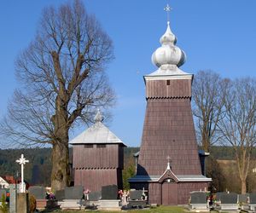
{"label": "brown wooden entrance door at the base of the tall tower", "polygon": [[172,179],[162,183],[162,204],[177,205],[177,183]]}

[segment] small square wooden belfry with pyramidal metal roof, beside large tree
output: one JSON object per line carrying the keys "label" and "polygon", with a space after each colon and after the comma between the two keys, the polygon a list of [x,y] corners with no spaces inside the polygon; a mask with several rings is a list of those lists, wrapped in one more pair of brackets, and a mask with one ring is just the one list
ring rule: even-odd
{"label": "small square wooden belfry with pyramidal metal roof, beside large tree", "polygon": [[95,124],[69,143],[73,145],[73,181],[84,190],[99,192],[102,186],[123,187],[125,144],[102,124],[96,113]]}

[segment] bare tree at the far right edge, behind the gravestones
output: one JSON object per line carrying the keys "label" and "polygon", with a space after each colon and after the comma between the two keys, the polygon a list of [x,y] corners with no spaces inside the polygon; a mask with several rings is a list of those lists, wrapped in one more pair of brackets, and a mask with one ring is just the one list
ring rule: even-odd
{"label": "bare tree at the far right edge, behind the gravestones", "polygon": [[256,143],[256,80],[241,78],[230,84],[224,101],[225,117],[219,123],[224,142],[234,148],[241,181],[247,193],[247,176]]}

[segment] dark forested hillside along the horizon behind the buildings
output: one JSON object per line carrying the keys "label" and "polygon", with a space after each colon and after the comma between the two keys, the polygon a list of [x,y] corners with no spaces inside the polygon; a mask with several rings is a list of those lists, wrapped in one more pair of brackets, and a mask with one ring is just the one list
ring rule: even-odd
{"label": "dark forested hillside along the horizon behind the buildings", "polygon": [[[133,153],[139,147],[125,147],[125,164],[131,164]],[[49,186],[51,171],[51,148],[0,149],[0,176],[20,175],[20,165],[15,160],[23,153],[29,163],[25,165],[25,179],[32,185]],[[253,150],[256,156],[256,149]],[[234,159],[232,147],[212,147],[211,156],[216,159]]]}

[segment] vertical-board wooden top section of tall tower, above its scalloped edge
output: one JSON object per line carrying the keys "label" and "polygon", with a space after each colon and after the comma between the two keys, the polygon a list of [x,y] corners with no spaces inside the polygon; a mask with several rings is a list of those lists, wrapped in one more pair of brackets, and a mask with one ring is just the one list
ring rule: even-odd
{"label": "vertical-board wooden top section of tall tower, above its scalloped edge", "polygon": [[147,80],[146,98],[179,98],[191,97],[191,80],[180,79],[170,80],[170,85],[166,80]]}

